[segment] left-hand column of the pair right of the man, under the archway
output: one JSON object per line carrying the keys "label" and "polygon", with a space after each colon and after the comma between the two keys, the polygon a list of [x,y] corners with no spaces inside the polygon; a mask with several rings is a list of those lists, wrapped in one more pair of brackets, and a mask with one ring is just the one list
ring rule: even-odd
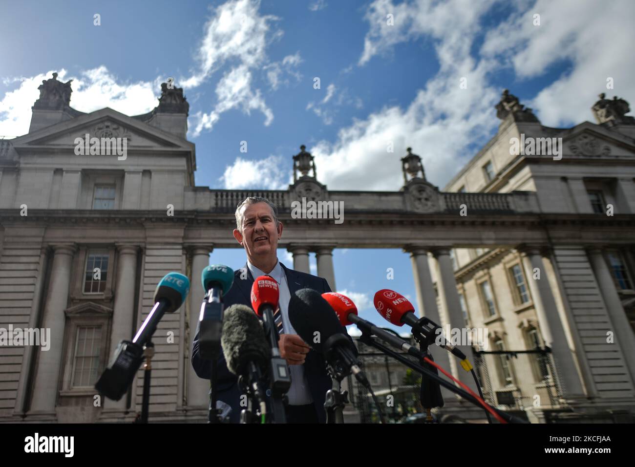
{"label": "left-hand column of the pair right of the man, under the archway", "polygon": [[[408,246],[404,252],[410,252],[412,261],[412,273],[415,278],[415,288],[417,288],[417,308],[418,316],[425,316],[441,325],[441,315],[436,304],[436,292],[432,284],[432,274],[428,262],[428,250],[422,247]],[[436,363],[443,368],[450,368],[450,354],[436,345],[430,346],[429,351]],[[446,402],[450,402],[454,395],[449,389],[441,387],[441,395]]]}

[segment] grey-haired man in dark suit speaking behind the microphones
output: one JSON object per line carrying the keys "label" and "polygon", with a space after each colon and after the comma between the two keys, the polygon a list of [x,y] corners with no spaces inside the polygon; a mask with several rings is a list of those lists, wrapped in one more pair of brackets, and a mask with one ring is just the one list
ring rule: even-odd
{"label": "grey-haired man in dark suit speaking behind the microphones", "polygon": [[[232,288],[225,294],[225,307],[240,303],[251,308],[251,285],[254,278],[268,274],[277,281],[280,298],[279,308],[282,327],[278,347],[291,372],[286,417],[288,423],[324,423],[326,412],[324,400],[331,381],[323,355],[312,350],[291,326],[288,305],[291,295],[301,288],[312,288],[323,294],[331,292],[326,280],[311,274],[288,269],[277,259],[277,243],[282,237],[283,224],[277,219],[276,206],[266,198],[250,197],[236,209],[234,238],[244,248],[247,264],[234,272]],[[345,328],[344,328],[345,330]],[[197,328],[192,348],[192,365],[196,374],[205,379],[211,376],[211,361],[203,360],[199,354]],[[228,369],[224,356],[217,365],[217,398],[231,407],[229,419],[238,423],[241,391],[237,377]],[[223,404],[221,404],[223,405]]]}

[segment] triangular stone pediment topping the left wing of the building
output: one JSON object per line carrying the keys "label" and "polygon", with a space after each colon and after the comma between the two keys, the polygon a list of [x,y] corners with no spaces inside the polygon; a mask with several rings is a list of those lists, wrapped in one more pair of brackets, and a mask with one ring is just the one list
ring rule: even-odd
{"label": "triangular stone pediment topping the left wing of the building", "polygon": [[194,149],[194,145],[188,141],[110,108],[46,126],[12,141],[13,146],[18,150],[20,147],[34,146],[75,147],[76,138],[84,139],[86,133],[90,135],[90,138],[125,137],[129,148]]}

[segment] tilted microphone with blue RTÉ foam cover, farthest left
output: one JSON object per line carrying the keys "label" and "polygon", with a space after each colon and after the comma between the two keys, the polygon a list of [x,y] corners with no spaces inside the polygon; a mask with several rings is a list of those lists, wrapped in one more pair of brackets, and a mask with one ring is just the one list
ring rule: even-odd
{"label": "tilted microphone with blue RT\u00c9 foam cover, farthest left", "polygon": [[165,313],[181,306],[190,290],[190,281],[183,274],[168,273],[154,290],[154,306],[132,341],[121,341],[109,366],[95,384],[95,389],[112,400],[119,400],[128,391],[141,366],[144,345],[150,341]]}

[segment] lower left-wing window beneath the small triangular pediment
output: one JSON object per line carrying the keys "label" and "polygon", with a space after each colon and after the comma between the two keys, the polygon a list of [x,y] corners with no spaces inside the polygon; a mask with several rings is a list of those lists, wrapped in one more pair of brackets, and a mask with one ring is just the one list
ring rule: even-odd
{"label": "lower left-wing window beneath the small triangular pediment", "polygon": [[99,356],[102,341],[101,326],[78,326],[75,335],[75,352],[72,372],[72,388],[92,387],[97,382],[100,367]]}

